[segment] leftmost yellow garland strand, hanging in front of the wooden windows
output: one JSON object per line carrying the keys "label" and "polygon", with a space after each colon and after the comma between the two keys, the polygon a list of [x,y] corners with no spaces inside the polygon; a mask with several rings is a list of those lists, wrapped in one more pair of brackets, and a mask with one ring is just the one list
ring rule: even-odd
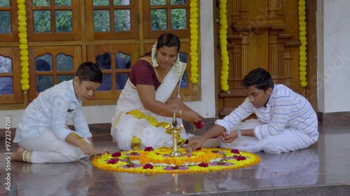
{"label": "leftmost yellow garland strand, hanging in front of the wooden windows", "polygon": [[22,67],[22,90],[29,89],[29,57],[27,40],[27,17],[25,0],[17,0],[18,4],[18,37],[20,38],[20,61]]}

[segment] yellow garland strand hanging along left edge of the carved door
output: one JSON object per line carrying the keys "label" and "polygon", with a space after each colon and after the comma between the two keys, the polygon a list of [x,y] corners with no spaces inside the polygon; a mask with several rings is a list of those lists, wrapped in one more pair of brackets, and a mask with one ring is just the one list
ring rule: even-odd
{"label": "yellow garland strand hanging along left edge of the carved door", "polygon": [[229,70],[229,59],[228,59],[228,20],[226,19],[226,3],[227,0],[220,0],[219,13],[220,13],[220,48],[221,48],[221,89],[228,91],[228,70]]}

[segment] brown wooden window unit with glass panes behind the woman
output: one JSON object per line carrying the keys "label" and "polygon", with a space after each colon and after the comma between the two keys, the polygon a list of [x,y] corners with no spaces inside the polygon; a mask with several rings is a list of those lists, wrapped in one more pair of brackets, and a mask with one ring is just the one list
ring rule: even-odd
{"label": "brown wooden window unit with glass panes behind the woman", "polygon": [[[16,5],[15,0],[0,2],[0,100],[27,104],[20,84],[18,29],[13,27],[18,27]],[[116,104],[133,64],[166,32],[179,36],[181,61],[188,63],[181,97],[200,99],[189,80],[188,0],[32,0],[26,6],[30,88],[25,96],[29,103],[41,91],[71,80],[80,63],[93,61],[102,69],[104,80],[93,100],[84,105]]]}

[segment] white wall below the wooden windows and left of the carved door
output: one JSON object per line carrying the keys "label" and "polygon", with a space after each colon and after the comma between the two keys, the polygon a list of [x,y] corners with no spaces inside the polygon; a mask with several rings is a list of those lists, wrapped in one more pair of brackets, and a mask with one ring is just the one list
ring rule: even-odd
{"label": "white wall below the wooden windows and left of the carved door", "polygon": [[[204,118],[216,116],[215,75],[214,75],[214,24],[213,1],[200,1],[200,63],[202,66],[202,101],[186,103]],[[84,107],[87,123],[111,123],[115,105]],[[5,127],[5,117],[11,116],[11,126],[15,128],[24,110],[1,110],[0,128]]]}

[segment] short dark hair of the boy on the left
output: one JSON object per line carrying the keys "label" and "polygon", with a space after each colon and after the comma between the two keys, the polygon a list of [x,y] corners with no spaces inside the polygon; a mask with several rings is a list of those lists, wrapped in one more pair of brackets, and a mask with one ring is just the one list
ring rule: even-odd
{"label": "short dark hair of the boy on the left", "polygon": [[97,66],[96,63],[85,62],[81,63],[81,65],[76,70],[76,74],[74,76],[78,76],[80,82],[90,81],[95,83],[102,83],[102,71]]}

